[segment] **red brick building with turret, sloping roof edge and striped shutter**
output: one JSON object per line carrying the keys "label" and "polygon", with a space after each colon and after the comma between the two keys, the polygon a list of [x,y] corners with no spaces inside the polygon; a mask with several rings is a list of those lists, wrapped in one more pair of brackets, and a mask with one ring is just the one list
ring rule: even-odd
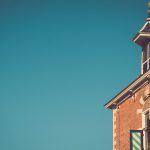
{"label": "red brick building with turret, sloping roof edge and striped shutter", "polygon": [[150,150],[150,8],[133,41],[141,47],[141,75],[105,104],[113,112],[113,150]]}

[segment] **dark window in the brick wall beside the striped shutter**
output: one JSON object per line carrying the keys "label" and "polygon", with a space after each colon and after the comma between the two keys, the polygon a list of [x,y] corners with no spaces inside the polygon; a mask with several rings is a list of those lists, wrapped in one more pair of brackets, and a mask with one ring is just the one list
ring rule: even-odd
{"label": "dark window in the brick wall beside the striped shutter", "polygon": [[145,146],[146,150],[150,150],[150,114],[145,114]]}

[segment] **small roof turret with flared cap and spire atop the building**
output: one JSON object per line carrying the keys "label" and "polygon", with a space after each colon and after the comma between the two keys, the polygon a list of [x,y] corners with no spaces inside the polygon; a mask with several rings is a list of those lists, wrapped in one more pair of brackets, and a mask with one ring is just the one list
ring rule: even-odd
{"label": "small roof turret with flared cap and spire atop the building", "polygon": [[141,74],[150,70],[150,2],[148,2],[148,17],[146,23],[133,41],[142,48]]}

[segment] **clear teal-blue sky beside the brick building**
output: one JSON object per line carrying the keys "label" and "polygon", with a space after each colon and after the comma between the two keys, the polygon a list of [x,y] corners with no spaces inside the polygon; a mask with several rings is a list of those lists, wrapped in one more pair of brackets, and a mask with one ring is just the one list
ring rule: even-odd
{"label": "clear teal-blue sky beside the brick building", "polygon": [[110,150],[104,104],[140,75],[142,0],[0,0],[0,149]]}

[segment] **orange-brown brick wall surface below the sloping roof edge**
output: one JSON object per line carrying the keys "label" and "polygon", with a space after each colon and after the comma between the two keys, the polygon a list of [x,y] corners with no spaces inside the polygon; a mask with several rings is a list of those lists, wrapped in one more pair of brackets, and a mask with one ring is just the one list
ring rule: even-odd
{"label": "orange-brown brick wall surface below the sloping roof edge", "polygon": [[138,109],[143,108],[140,99],[144,97],[149,85],[145,86],[132,97],[123,102],[115,113],[114,133],[115,150],[130,149],[130,130],[142,128],[142,113],[137,113]]}

